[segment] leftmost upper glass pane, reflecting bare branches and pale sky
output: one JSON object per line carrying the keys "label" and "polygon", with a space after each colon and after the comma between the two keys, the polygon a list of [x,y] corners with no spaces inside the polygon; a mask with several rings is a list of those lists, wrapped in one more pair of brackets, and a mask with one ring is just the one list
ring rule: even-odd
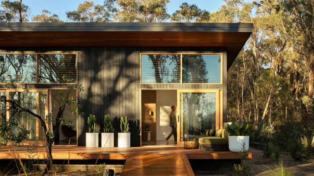
{"label": "leftmost upper glass pane, reflecting bare branches and pale sky", "polygon": [[0,54],[0,82],[36,82],[36,54]]}

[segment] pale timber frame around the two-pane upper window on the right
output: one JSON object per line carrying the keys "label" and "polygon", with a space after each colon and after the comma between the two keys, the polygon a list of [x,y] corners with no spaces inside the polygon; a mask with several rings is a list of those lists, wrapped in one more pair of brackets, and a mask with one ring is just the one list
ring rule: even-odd
{"label": "pale timber frame around the two-pane upper window on the right", "polygon": [[[181,55],[180,59],[180,83],[143,83],[142,82],[142,55],[155,54],[155,55]],[[182,57],[183,55],[220,55],[220,83],[184,83],[182,71]],[[222,85],[223,84],[223,53],[140,53],[140,84],[208,84],[208,85]]]}

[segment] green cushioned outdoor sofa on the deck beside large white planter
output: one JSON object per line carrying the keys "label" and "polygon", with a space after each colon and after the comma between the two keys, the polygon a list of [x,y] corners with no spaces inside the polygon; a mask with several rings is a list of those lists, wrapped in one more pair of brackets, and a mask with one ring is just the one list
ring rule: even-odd
{"label": "green cushioned outdoor sofa on the deck beside large white planter", "polygon": [[198,137],[198,148],[204,151],[229,151],[229,133],[225,129],[209,129],[206,137]]}

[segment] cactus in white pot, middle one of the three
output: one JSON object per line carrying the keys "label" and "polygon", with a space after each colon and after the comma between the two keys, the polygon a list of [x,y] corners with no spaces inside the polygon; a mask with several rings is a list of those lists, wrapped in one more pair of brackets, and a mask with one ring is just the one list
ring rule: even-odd
{"label": "cactus in white pot, middle one of the three", "polygon": [[101,147],[114,147],[114,135],[109,114],[104,117],[104,132],[101,133]]}

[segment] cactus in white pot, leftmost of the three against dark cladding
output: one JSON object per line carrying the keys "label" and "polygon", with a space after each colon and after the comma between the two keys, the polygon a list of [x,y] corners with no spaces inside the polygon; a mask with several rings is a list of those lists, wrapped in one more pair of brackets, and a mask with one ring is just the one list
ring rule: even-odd
{"label": "cactus in white pot, leftmost of the three against dark cladding", "polygon": [[87,118],[88,132],[86,133],[86,147],[98,147],[98,133],[96,131],[96,117],[89,115]]}

